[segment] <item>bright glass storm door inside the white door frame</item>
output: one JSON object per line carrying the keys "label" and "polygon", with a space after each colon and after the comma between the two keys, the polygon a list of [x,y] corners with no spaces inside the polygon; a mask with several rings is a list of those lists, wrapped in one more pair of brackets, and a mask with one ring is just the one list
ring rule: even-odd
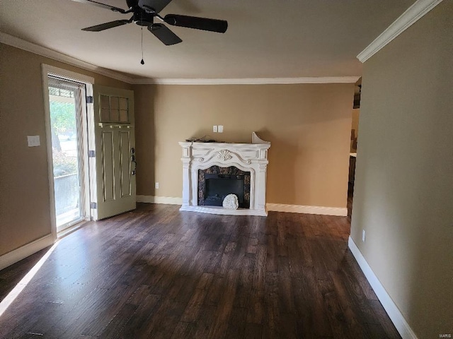
{"label": "bright glass storm door inside the white door frame", "polygon": [[85,85],[49,76],[50,131],[57,232],[86,219]]}

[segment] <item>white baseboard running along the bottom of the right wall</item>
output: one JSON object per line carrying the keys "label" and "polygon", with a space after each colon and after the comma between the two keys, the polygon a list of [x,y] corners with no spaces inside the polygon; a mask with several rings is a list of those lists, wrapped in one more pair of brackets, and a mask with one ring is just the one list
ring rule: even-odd
{"label": "white baseboard running along the bottom of the right wall", "polygon": [[401,314],[401,311],[391,299],[384,286],[382,286],[381,282],[374,274],[371,267],[369,267],[367,261],[365,260],[365,257],[362,255],[362,252],[360,252],[360,249],[357,247],[351,237],[349,237],[348,246],[360,268],[362,268],[362,271],[365,274],[369,285],[371,285],[374,293],[376,293],[379,302],[381,302],[391,321],[394,323],[396,330],[401,335],[401,338],[417,339],[417,336],[415,335],[415,333],[413,333],[411,326],[409,326],[406,319],[404,319],[403,314]]}

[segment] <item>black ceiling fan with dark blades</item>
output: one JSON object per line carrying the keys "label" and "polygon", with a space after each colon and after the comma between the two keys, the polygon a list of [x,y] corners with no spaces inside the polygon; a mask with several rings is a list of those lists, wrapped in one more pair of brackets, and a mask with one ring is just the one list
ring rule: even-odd
{"label": "black ceiling fan with dark blades", "polygon": [[[226,32],[228,28],[228,22],[225,20],[209,19],[209,18],[198,18],[196,16],[180,16],[178,14],[167,14],[162,17],[159,12],[167,6],[171,0],[126,0],[127,10],[102,4],[98,1],[93,0],[73,0],[82,2],[85,4],[91,4],[102,8],[110,9],[110,11],[127,14],[132,13],[129,20],[115,20],[109,23],[101,23],[101,25],[95,25],[82,30],[89,32],[101,32],[101,30],[107,30],[117,26],[125,25],[127,23],[136,23],[140,26],[147,26],[149,32],[153,33],[161,42],[166,45],[178,44],[183,40],[173,33],[163,23],[168,25],[180,26],[186,28],[195,28],[197,30],[209,30],[210,32]],[[158,18],[163,23],[154,23],[154,18]]]}

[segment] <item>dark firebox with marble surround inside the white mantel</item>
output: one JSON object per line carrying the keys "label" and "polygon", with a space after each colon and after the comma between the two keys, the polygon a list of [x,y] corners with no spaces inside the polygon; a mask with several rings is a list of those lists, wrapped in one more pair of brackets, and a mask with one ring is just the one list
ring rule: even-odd
{"label": "dark firebox with marble surround inside the white mantel", "polygon": [[228,194],[236,194],[239,208],[250,208],[250,172],[234,166],[198,169],[198,206],[222,206]]}

